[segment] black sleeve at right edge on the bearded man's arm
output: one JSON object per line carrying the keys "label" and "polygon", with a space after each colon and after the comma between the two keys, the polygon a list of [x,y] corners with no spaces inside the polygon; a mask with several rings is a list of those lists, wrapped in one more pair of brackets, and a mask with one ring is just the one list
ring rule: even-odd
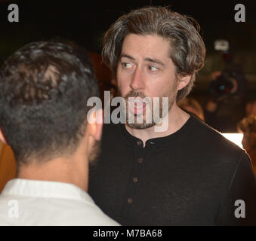
{"label": "black sleeve at right edge on the bearded man's arm", "polygon": [[245,151],[242,151],[227,194],[219,206],[216,224],[256,225],[256,182]]}

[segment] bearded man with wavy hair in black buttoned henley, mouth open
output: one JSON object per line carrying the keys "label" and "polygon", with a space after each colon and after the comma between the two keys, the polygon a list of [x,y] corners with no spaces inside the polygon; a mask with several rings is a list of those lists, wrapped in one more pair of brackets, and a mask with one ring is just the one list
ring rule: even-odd
{"label": "bearded man with wavy hair in black buttoned henley, mouth open", "polygon": [[198,27],[191,17],[147,7],[119,17],[104,35],[103,59],[127,120],[104,125],[89,193],[121,224],[256,224],[248,155],[177,106],[204,66]]}

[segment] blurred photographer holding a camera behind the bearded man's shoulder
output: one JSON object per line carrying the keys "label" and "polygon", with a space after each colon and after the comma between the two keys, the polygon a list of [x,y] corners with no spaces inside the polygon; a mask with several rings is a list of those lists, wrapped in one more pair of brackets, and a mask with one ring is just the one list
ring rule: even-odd
{"label": "blurred photographer holding a camera behind the bearded man's shoulder", "polygon": [[205,104],[205,121],[222,133],[236,133],[236,124],[245,115],[247,81],[239,66],[213,72],[210,98]]}

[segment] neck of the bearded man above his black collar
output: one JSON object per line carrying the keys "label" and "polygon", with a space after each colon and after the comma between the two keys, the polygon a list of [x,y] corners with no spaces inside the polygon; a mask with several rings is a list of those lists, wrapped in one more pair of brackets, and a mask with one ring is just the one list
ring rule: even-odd
{"label": "neck of the bearded man above his black collar", "polygon": [[[166,118],[166,117],[165,117]],[[159,138],[163,136],[169,136],[172,133],[175,133],[177,130],[180,130],[181,127],[187,122],[190,118],[190,114],[183,111],[177,105],[173,105],[168,111],[168,127],[167,130],[163,132],[156,131],[155,127],[150,127],[147,129],[135,129],[130,127],[128,124],[125,124],[126,130],[132,136],[135,136],[143,141],[143,145],[148,139]]]}

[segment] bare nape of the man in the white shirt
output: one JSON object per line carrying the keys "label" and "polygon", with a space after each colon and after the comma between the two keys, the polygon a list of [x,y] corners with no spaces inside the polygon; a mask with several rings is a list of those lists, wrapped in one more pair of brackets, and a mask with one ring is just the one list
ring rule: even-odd
{"label": "bare nape of the man in the white shirt", "polygon": [[[85,157],[83,157],[85,158]],[[20,166],[17,178],[42,180],[51,182],[66,182],[88,191],[88,166],[79,165],[79,160],[56,158],[40,163],[33,160],[29,165]]]}

